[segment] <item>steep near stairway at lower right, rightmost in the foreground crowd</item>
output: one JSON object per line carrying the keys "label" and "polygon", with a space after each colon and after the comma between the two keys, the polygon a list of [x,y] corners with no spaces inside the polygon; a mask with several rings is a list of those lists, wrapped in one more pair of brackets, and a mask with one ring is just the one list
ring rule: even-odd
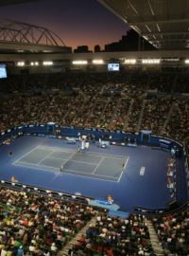
{"label": "steep near stairway at lower right, rightmost in the foreground crowd", "polygon": [[163,253],[162,244],[160,243],[158,235],[157,235],[155,229],[153,228],[153,225],[152,225],[151,221],[146,220],[146,225],[147,225],[147,228],[148,228],[148,231],[149,231],[151,246],[153,247],[154,253],[157,256],[163,256],[164,253]]}

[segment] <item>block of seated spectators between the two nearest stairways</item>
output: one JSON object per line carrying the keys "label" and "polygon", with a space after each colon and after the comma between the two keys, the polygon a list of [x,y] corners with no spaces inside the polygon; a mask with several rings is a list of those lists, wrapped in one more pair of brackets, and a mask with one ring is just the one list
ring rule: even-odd
{"label": "block of seated spectators between the two nearest stairways", "polygon": [[97,215],[95,224],[70,249],[70,255],[71,252],[76,256],[154,255],[145,216],[130,215],[129,219],[121,219],[105,213]]}

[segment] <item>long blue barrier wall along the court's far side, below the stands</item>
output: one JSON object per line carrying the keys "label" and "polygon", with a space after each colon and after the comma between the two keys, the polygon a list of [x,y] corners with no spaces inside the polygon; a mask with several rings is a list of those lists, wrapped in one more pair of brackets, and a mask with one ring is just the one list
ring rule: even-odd
{"label": "long blue barrier wall along the court's far side, below the stands", "polygon": [[134,145],[137,144],[145,144],[151,147],[160,147],[161,141],[166,140],[169,141],[167,150],[171,150],[174,146],[177,146],[180,149],[180,152],[183,151],[182,144],[172,138],[162,137],[157,135],[150,135],[150,141],[148,143],[144,143],[141,139],[141,135],[144,134],[144,131],[141,133],[125,133],[121,130],[110,131],[106,129],[80,129],[77,127],[63,127],[58,124],[54,124],[53,133],[52,130],[49,133],[49,124],[23,124],[21,126],[15,126],[7,131],[4,131],[0,135],[0,144],[5,142],[9,138],[22,136],[22,135],[35,135],[40,137],[52,137],[52,138],[65,138],[65,137],[78,137],[78,136],[88,136],[91,137],[92,140],[98,140],[101,138],[102,140],[110,141],[110,143],[114,145]]}

